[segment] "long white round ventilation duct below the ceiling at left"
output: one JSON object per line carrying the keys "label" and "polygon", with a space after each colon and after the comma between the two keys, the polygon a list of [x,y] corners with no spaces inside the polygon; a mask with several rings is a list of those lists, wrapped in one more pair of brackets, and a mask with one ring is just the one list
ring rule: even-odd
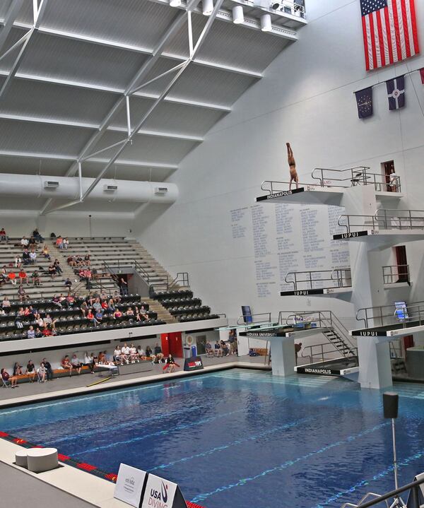
{"label": "long white round ventilation duct below the ceiling at left", "polygon": [[[47,185],[54,182],[54,186]],[[94,178],[83,178],[83,192],[94,182]],[[156,189],[166,188],[163,194]],[[113,191],[112,191],[113,189]],[[0,173],[0,196],[20,196],[78,200],[80,187],[78,177],[46,177],[43,175],[15,175]],[[135,182],[103,178],[88,195],[87,201],[126,201],[134,203],[175,203],[178,188],[163,182]]]}

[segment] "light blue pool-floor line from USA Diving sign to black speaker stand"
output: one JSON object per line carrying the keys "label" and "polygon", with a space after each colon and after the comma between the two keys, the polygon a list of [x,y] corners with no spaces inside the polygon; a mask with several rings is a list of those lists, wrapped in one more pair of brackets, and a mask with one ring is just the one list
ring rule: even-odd
{"label": "light blue pool-floor line from USA Diving sign to black speaker stand", "polygon": [[261,471],[261,473],[257,473],[254,476],[250,476],[248,478],[240,478],[240,480],[237,480],[237,482],[235,482],[235,483],[229,483],[228,485],[223,485],[223,486],[218,487],[214,490],[211,490],[211,492],[205,492],[202,494],[198,494],[192,499],[192,502],[204,501],[208,497],[211,497],[214,494],[218,494],[218,492],[223,492],[224,490],[230,490],[235,487],[241,487],[242,485],[246,485],[246,483],[250,483],[254,480],[258,480],[259,478],[269,475],[270,473],[276,473],[277,471],[282,471],[283,469],[289,468],[291,466],[295,466],[295,464],[300,461],[303,461],[305,459],[310,459],[312,456],[315,456],[318,454],[323,454],[325,451],[328,451],[331,448],[339,447],[343,444],[349,444],[349,443],[355,441],[355,439],[358,439],[359,437],[363,437],[367,434],[370,434],[371,432],[375,432],[375,430],[379,430],[383,427],[387,427],[387,425],[391,425],[391,423],[390,422],[379,423],[379,425],[370,427],[370,429],[363,430],[362,432],[358,432],[358,434],[353,434],[351,436],[346,437],[345,439],[341,439],[340,441],[337,441],[337,442],[334,442],[331,444],[327,444],[325,447],[322,447],[322,448],[315,450],[315,451],[310,451],[308,454],[301,455],[299,457],[296,457],[293,460],[285,461],[282,464],[279,464],[278,466],[274,466],[273,468],[269,468],[269,469],[266,469],[265,471]]}

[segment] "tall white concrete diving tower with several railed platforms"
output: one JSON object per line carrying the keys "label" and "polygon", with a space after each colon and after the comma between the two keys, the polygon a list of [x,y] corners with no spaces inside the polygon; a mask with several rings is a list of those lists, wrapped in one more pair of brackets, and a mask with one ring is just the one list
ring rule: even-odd
{"label": "tall white concrete diving tower with several railed platforms", "polygon": [[[292,187],[295,187],[295,182],[292,182]],[[394,245],[424,240],[424,211],[396,208],[399,201],[405,198],[399,177],[393,184],[387,175],[373,173],[370,167],[358,166],[346,170],[316,168],[312,172],[312,182],[299,183],[299,188],[290,189],[289,182],[266,180],[262,182],[261,189],[266,194],[257,197],[258,203],[336,205],[345,208],[345,213],[338,217],[341,231],[332,235],[332,240],[348,242],[351,266],[324,271],[288,272],[285,284],[292,288],[281,290],[281,296],[325,295],[348,300],[357,309],[356,318],[362,321],[364,303],[376,305],[384,301],[385,290],[404,287],[407,291],[411,286],[409,266],[382,266],[379,254],[382,249]],[[364,327],[345,332],[346,336],[356,341],[352,343],[351,350],[344,350],[339,358],[328,360],[324,358],[324,345],[320,345],[321,353],[313,352],[311,347],[310,365],[298,367],[297,372],[346,375],[367,388],[391,386],[389,343],[413,332],[424,331],[424,307],[420,307],[420,302],[418,304],[418,314],[411,312],[411,317],[401,322],[393,316],[393,305],[387,306],[387,312],[392,314],[391,321],[386,319],[384,322],[371,321],[375,315],[369,314],[370,309],[377,307],[368,307]],[[308,312],[312,314],[310,310]],[[311,321],[310,326],[314,326],[315,333],[322,332],[326,336],[328,330],[324,330],[322,319],[318,322],[313,324]],[[341,335],[339,332],[338,335]],[[347,343],[346,338],[343,341]],[[285,348],[278,345],[278,350],[280,356],[277,361],[287,362],[281,358]],[[290,351],[287,350],[288,355],[291,355]],[[317,362],[320,354],[321,361]],[[277,373],[278,370],[278,366],[273,365],[273,372]],[[284,367],[281,372],[278,375],[289,375],[290,370]]]}

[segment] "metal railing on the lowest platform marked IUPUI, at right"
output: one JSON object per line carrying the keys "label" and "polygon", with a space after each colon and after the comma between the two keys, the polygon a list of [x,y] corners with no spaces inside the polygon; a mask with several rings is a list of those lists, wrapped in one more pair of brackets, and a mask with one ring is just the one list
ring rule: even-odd
{"label": "metal railing on the lowest platform marked IUPUI, at right", "polygon": [[356,320],[363,321],[365,328],[374,326],[390,326],[391,324],[406,324],[418,321],[424,324],[424,302],[412,302],[404,309],[404,318],[399,318],[399,310],[394,305],[381,305],[379,307],[363,307],[356,312]]}

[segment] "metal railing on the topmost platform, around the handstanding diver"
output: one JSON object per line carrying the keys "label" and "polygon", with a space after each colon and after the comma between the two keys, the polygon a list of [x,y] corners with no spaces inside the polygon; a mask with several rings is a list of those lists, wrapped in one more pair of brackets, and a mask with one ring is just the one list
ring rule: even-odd
{"label": "metal railing on the topmost platform, around the handstanding diver", "polygon": [[[388,191],[389,189],[393,191],[393,187],[390,187],[389,182],[387,182],[387,175],[372,173],[369,170],[370,167],[368,166],[348,167],[346,170],[330,170],[324,167],[315,167],[314,170],[312,170],[311,177],[317,180],[318,183],[298,182],[298,185],[301,187],[335,187],[341,189],[355,187],[357,185],[373,185],[377,192]],[[335,176],[343,176],[343,178],[334,177],[334,174],[336,174]],[[345,175],[347,176],[344,177]],[[334,184],[333,182],[336,183]],[[282,185],[284,187],[282,187]],[[269,194],[274,194],[287,190],[287,187],[285,187],[287,185],[290,185],[290,182],[264,180],[261,184],[261,189],[267,191]],[[401,192],[401,179],[399,177],[396,179],[396,192]]]}

